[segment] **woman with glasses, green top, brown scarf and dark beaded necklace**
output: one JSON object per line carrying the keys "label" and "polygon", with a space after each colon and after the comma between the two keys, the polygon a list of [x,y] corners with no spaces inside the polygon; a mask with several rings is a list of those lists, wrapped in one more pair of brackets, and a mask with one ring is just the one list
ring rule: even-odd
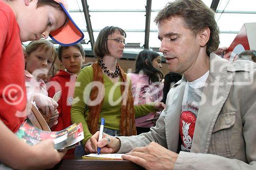
{"label": "woman with glasses, green top, brown scarf and dark beaded necklace", "polygon": [[99,130],[101,118],[105,119],[104,133],[131,136],[136,135],[135,118],[165,107],[163,103],[134,106],[131,81],[117,63],[123,55],[125,37],[121,28],[103,28],[93,48],[97,62],[84,67],[78,75],[71,120],[82,123],[84,140],[75,155],[89,153],[88,139]]}

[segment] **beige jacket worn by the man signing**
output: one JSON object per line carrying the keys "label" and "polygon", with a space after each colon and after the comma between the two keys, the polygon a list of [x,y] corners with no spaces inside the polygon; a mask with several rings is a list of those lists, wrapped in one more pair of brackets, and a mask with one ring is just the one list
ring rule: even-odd
{"label": "beige jacket worn by the man signing", "polygon": [[[174,169],[256,169],[255,68],[250,61],[229,62],[210,54],[191,152],[180,152]],[[166,109],[150,132],[118,137],[118,153],[152,141],[177,152],[185,85],[183,77],[170,89]]]}

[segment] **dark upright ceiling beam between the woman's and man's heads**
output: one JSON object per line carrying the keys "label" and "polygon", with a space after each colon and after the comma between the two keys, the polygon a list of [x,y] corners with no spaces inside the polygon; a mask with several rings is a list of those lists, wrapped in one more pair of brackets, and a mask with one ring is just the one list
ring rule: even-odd
{"label": "dark upright ceiling beam between the woman's and man's heads", "polygon": [[144,40],[144,48],[145,49],[148,49],[148,44],[149,44],[149,41],[150,41],[151,6],[152,6],[152,0],[147,0],[146,1],[145,40]]}

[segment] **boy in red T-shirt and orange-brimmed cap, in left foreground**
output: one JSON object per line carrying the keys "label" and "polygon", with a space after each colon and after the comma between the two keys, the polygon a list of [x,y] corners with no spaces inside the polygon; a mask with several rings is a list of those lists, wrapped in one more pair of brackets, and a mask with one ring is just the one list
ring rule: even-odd
{"label": "boy in red T-shirt and orange-brimmed cap, in left foreground", "polygon": [[[21,41],[47,38],[52,34],[55,41],[69,45],[83,38],[82,32],[73,23],[65,6],[63,1],[0,0],[0,162],[2,165],[6,164],[15,169],[46,169],[53,167],[66,153],[57,152],[53,147],[54,142],[50,139],[30,146],[14,134],[26,117],[25,61]],[[72,36],[74,39],[69,41],[62,41],[58,35],[65,32],[77,36]]]}

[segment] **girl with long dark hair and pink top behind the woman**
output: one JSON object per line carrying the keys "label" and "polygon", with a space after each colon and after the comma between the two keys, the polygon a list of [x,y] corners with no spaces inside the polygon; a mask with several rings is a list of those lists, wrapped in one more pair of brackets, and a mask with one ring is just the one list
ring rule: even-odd
{"label": "girl with long dark hair and pink top behind the woman", "polygon": [[[128,74],[131,77],[134,105],[159,102],[163,97],[163,74],[160,71],[161,56],[154,51],[143,50],[136,58],[135,71]],[[137,134],[150,131],[154,126],[152,119],[155,112],[135,119]]]}

